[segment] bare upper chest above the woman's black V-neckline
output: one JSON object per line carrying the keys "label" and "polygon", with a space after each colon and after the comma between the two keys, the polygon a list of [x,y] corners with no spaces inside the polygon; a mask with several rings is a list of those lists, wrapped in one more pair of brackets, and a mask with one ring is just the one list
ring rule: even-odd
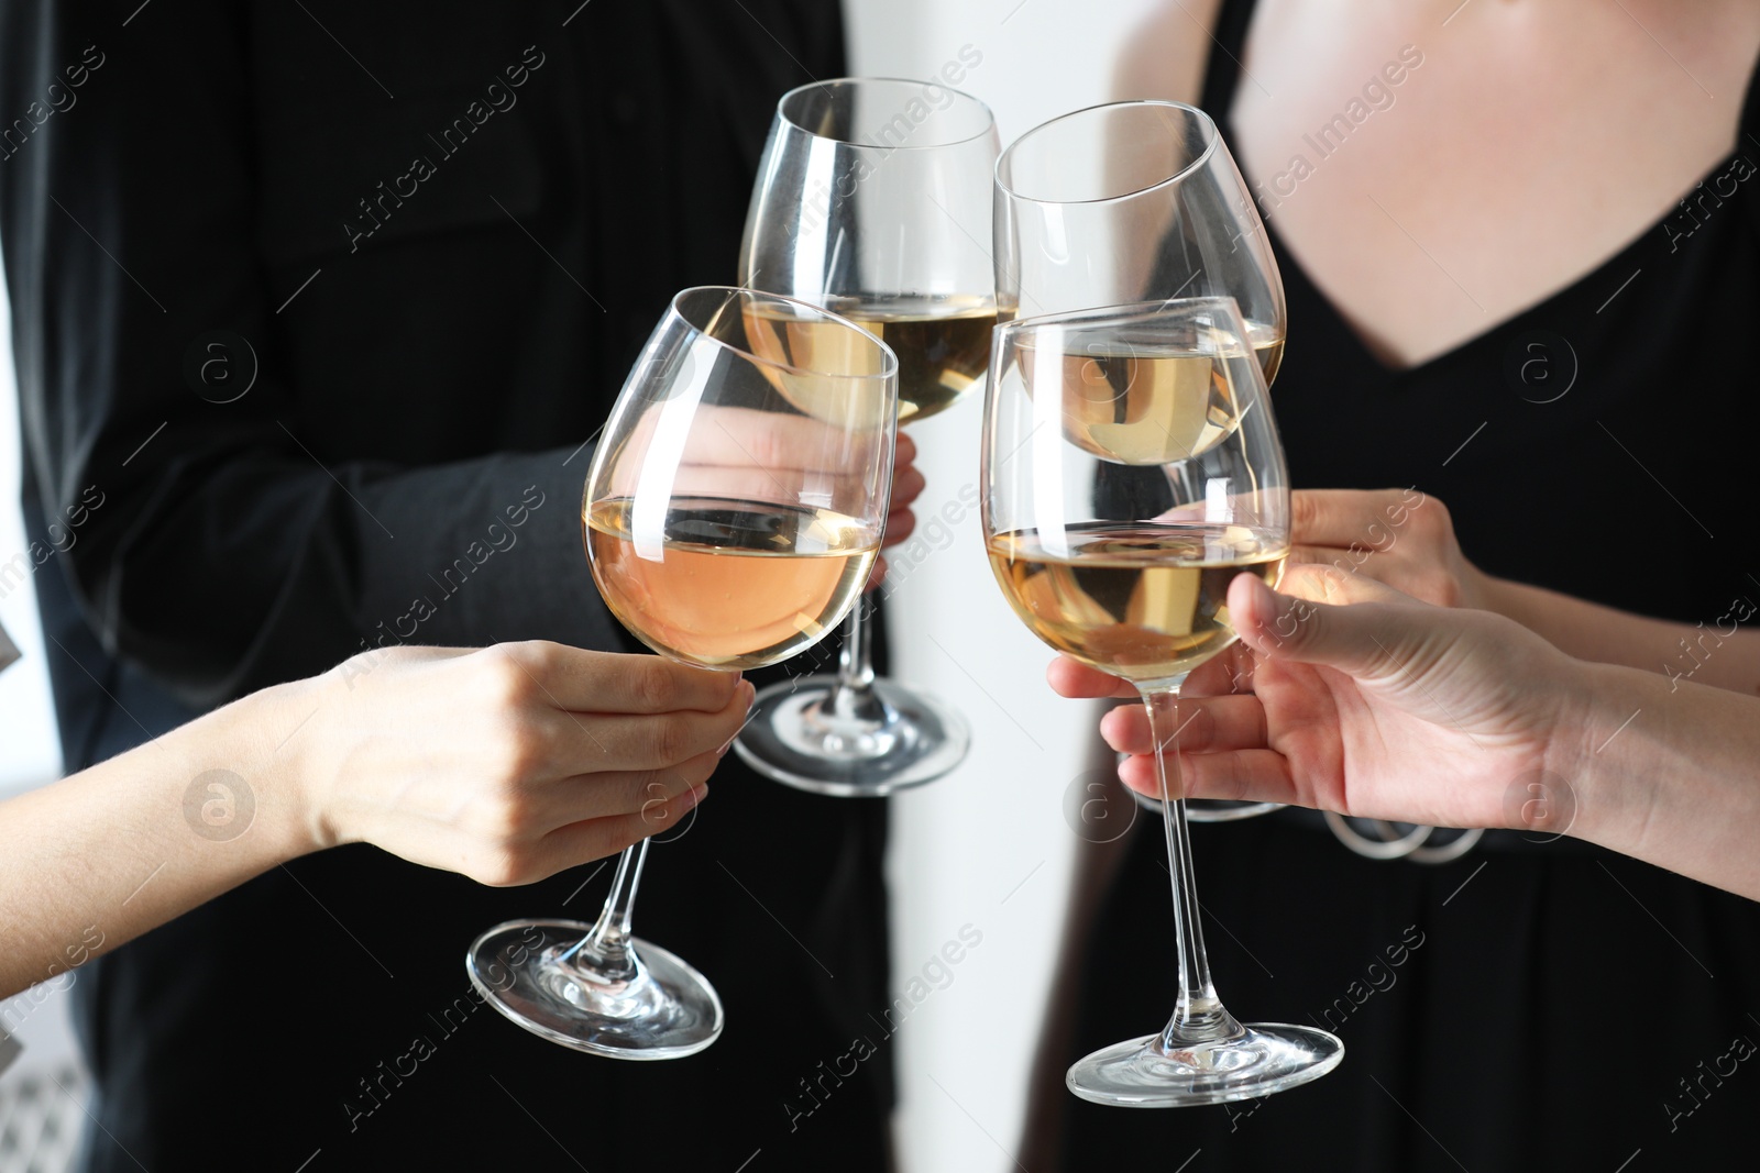
{"label": "bare upper chest above the woman's black V-neckline", "polygon": [[1234,100],[1260,208],[1390,368],[1660,232],[1735,146],[1760,47],[1753,0],[1454,9],[1262,0]]}

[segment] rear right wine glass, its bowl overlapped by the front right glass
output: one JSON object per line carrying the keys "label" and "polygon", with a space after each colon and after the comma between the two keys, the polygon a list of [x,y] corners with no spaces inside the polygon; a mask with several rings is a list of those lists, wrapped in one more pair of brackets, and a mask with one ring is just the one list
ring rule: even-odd
{"label": "rear right wine glass, its bowl overlapped by the front right glass", "polygon": [[[1181,102],[1112,102],[1052,118],[1003,151],[996,165],[1003,318],[1169,297],[1234,297],[1265,382],[1278,376],[1283,278],[1209,114]],[[1165,440],[1156,434],[1142,455],[1153,457]],[[1188,816],[1216,823],[1280,805],[1204,798],[1190,804]]]}

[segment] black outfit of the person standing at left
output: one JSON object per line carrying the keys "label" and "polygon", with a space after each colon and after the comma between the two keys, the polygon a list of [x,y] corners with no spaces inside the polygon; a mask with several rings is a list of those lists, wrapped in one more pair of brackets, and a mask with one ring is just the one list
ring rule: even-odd
{"label": "black outfit of the person standing at left", "polygon": [[[672,292],[736,280],[776,98],[841,69],[824,0],[0,4],[69,767],[174,721],[165,686],[382,640],[634,651],[588,441]],[[723,997],[708,1052],[581,1055],[472,995],[479,932],[591,920],[609,865],[491,890],[352,846],[77,974],[86,1168],[885,1168],[885,804],[716,779],[637,907]]]}

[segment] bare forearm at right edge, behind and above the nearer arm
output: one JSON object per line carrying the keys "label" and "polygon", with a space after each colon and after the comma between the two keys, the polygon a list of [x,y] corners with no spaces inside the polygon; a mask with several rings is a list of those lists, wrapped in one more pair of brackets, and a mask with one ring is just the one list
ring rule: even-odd
{"label": "bare forearm at right edge, behind and above the nearer arm", "polygon": [[1727,614],[1688,626],[1505,579],[1487,577],[1484,594],[1489,610],[1508,616],[1577,659],[1748,696],[1760,691],[1760,631],[1737,626],[1755,614],[1746,600],[1734,600]]}

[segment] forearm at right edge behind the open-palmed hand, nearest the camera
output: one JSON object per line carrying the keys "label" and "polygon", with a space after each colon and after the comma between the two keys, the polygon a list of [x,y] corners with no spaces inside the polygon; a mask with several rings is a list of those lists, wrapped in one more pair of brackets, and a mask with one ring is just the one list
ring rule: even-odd
{"label": "forearm at right edge behind the open-palmed hand, nearest the camera", "polygon": [[1589,667],[1580,740],[1558,770],[1572,834],[1760,900],[1760,702]]}

